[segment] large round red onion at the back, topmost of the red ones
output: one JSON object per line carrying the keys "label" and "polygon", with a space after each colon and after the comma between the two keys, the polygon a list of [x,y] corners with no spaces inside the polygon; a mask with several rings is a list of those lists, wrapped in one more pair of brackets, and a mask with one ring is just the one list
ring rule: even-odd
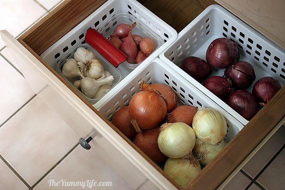
{"label": "large round red onion at the back, topmost of the red ones", "polygon": [[238,46],[227,38],[217,38],[209,45],[206,60],[216,69],[227,68],[239,59]]}

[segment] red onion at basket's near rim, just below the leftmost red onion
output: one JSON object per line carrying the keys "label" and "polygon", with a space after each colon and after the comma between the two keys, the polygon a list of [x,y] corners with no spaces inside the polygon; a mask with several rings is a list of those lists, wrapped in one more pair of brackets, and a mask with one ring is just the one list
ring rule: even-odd
{"label": "red onion at basket's near rim, just below the leftmost red onion", "polygon": [[209,77],[203,85],[221,99],[226,98],[234,90],[232,81],[221,76]]}

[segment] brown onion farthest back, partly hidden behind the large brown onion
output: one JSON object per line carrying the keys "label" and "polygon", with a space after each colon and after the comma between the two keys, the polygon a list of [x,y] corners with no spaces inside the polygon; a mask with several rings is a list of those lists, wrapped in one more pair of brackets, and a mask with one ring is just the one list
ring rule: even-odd
{"label": "brown onion farthest back, partly hidden behind the large brown onion", "polygon": [[177,107],[177,95],[171,87],[165,84],[147,84],[145,82],[141,82],[140,88],[142,90],[158,90],[162,94],[162,96],[165,97],[165,100],[167,102],[167,113],[173,111]]}

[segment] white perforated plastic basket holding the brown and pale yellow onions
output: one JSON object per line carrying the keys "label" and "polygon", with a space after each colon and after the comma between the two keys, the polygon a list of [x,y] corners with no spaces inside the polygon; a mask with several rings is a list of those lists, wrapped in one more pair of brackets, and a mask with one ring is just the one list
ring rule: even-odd
{"label": "white perforated plastic basket holding the brown and pale yellow onions", "polygon": [[[139,84],[142,80],[148,84],[166,84],[172,87],[176,92],[179,98],[179,105],[186,104],[195,107],[214,108],[222,113],[228,125],[228,133],[225,141],[229,142],[232,140],[244,127],[243,124],[183,78],[170,64],[156,58],[152,62],[145,64],[144,67],[140,65],[125,78],[128,79],[129,82],[125,83],[118,92],[104,96],[108,101],[105,101],[98,110],[107,119],[111,120],[114,113],[120,108],[127,106],[131,98],[140,91]],[[115,88],[118,88],[118,86]]]}

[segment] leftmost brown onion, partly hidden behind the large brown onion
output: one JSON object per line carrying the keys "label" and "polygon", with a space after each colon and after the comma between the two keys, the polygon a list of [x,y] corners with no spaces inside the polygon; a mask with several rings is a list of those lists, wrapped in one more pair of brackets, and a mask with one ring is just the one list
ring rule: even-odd
{"label": "leftmost brown onion, partly hidden behind the large brown onion", "polygon": [[131,124],[128,107],[123,107],[115,112],[112,118],[112,124],[130,140],[137,134],[135,128]]}

